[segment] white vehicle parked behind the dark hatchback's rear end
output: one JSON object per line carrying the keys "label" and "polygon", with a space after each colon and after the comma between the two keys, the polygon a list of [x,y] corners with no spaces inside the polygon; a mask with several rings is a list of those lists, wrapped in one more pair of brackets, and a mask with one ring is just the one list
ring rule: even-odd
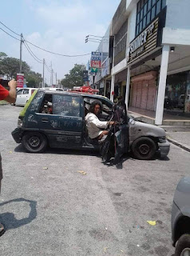
{"label": "white vehicle parked behind the dark hatchback's rear end", "polygon": [[26,102],[30,99],[30,96],[37,88],[22,88],[17,91],[17,99],[15,106],[25,106]]}

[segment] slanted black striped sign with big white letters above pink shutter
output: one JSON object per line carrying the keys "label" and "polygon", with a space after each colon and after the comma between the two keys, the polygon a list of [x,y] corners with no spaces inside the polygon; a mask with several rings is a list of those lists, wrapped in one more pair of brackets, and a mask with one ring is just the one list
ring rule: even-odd
{"label": "slanted black striped sign with big white letters above pink shutter", "polygon": [[133,40],[133,42],[130,43],[127,50],[128,64],[156,48],[158,20],[159,18],[156,18],[150,26],[148,26],[137,38]]}

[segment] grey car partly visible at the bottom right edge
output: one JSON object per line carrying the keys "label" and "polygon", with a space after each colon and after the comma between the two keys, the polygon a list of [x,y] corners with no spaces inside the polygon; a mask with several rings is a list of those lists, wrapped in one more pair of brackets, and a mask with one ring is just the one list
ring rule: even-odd
{"label": "grey car partly visible at the bottom right edge", "polygon": [[172,203],[172,242],[175,256],[190,255],[190,177],[180,180]]}

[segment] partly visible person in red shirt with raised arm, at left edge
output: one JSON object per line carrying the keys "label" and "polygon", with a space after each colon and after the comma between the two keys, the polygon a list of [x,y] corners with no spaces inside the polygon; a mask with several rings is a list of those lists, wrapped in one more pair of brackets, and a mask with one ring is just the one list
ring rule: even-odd
{"label": "partly visible person in red shirt with raised arm, at left edge", "polygon": [[[16,102],[17,98],[17,82],[14,80],[11,80],[8,83],[8,86],[10,86],[10,90],[6,90],[2,85],[0,85],[0,101],[5,100],[6,102],[9,103],[14,103]],[[1,183],[2,183],[2,157],[0,154],[0,194],[1,194]],[[2,223],[0,223],[0,236],[4,234],[5,229]]]}

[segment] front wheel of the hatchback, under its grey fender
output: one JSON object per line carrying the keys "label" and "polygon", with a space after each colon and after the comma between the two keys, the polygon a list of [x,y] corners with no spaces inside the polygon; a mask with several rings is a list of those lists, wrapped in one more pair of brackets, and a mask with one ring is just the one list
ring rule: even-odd
{"label": "front wheel of the hatchback, under its grey fender", "polygon": [[137,140],[133,142],[132,152],[137,159],[152,159],[156,153],[156,143],[148,137],[137,138]]}

